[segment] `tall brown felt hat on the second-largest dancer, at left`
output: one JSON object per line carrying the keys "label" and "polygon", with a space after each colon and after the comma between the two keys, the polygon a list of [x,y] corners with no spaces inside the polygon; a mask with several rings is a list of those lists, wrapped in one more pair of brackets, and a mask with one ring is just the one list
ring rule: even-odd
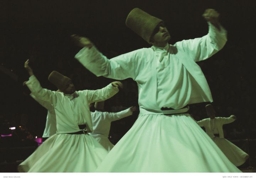
{"label": "tall brown felt hat on the second-largest dancer, at left", "polygon": [[68,85],[71,82],[70,78],[56,71],[53,71],[49,74],[48,80],[61,91],[65,90],[66,85]]}

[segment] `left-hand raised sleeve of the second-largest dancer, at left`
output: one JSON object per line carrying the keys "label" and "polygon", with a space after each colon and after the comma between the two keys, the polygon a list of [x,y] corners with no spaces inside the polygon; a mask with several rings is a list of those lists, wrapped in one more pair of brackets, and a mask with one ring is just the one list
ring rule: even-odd
{"label": "left-hand raised sleeve of the second-largest dancer, at left", "polygon": [[57,97],[55,91],[43,89],[37,80],[36,76],[30,76],[29,80],[26,82],[28,89],[30,89],[32,95],[37,97],[37,99],[51,103],[55,105],[57,103]]}

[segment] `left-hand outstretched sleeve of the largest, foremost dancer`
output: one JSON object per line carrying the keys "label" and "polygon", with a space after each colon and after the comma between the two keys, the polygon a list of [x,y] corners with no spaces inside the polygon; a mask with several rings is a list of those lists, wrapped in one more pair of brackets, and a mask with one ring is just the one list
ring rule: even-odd
{"label": "left-hand outstretched sleeve of the largest, foremost dancer", "polygon": [[75,55],[75,58],[96,76],[117,80],[127,78],[134,80],[137,75],[136,52],[138,50],[108,59],[93,46],[91,49],[84,47]]}

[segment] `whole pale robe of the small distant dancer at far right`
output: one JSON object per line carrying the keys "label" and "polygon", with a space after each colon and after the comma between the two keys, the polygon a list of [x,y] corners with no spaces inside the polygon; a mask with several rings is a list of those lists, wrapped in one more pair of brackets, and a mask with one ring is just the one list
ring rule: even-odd
{"label": "whole pale robe of the small distant dancer at far right", "polygon": [[[214,119],[203,119],[197,121],[197,124],[206,129],[207,135],[217,144],[226,157],[235,165],[240,166],[245,163],[249,155],[224,138],[223,125],[235,121],[231,116],[229,118],[215,117]],[[214,134],[219,134],[215,137]]]}

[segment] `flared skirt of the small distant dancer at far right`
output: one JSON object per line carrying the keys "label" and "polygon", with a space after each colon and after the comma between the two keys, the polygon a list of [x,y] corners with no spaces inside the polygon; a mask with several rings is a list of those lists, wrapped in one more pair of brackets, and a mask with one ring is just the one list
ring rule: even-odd
{"label": "flared skirt of the small distant dancer at far right", "polygon": [[249,158],[248,154],[225,138],[215,137],[212,139],[235,166],[244,164]]}

